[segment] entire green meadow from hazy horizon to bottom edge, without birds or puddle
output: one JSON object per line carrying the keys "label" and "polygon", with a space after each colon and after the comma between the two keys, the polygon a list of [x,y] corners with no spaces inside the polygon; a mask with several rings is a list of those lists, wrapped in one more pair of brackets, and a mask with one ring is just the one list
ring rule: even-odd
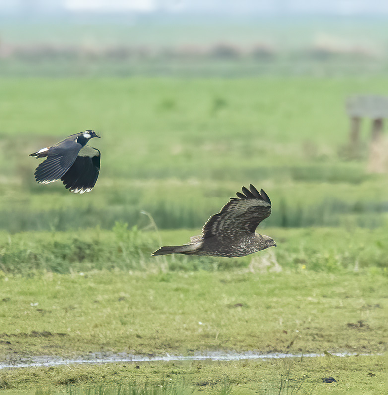
{"label": "entire green meadow from hazy horizon to bottom edge, without birds or puddle", "polygon": [[[344,103],[384,94],[387,83],[1,79],[0,361],[327,353],[3,369],[3,393],[383,393],[388,175],[368,171],[368,120],[360,149],[349,151]],[[37,185],[39,162],[28,155],[85,129],[102,137],[89,143],[101,151],[94,190]],[[258,231],[276,249],[150,257],[199,234],[250,183],[272,200]],[[339,380],[322,383],[329,376]]]}

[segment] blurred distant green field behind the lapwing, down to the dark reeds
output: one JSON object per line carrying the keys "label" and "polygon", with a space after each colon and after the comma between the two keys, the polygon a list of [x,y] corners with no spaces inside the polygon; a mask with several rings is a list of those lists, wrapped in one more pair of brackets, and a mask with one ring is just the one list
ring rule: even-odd
{"label": "blurred distant green field behind the lapwing, down to the dark reeds", "polygon": [[[344,100],[381,78],[9,79],[0,92],[0,226],[24,230],[199,228],[242,185],[273,201],[269,226],[386,223],[387,175],[349,161]],[[22,116],[20,116],[22,114]],[[71,116],[69,116],[71,114]],[[36,185],[28,154],[93,128],[95,190]],[[367,145],[369,125],[364,125]]]}

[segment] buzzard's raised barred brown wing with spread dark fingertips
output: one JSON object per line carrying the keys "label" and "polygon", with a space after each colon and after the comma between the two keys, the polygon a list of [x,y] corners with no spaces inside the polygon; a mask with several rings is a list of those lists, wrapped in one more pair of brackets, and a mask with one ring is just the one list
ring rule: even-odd
{"label": "buzzard's raised barred brown wing with spread dark fingertips", "polygon": [[218,214],[214,214],[202,229],[203,238],[233,236],[239,233],[255,232],[259,223],[271,214],[268,195],[260,193],[251,184],[250,191],[243,187],[244,194],[237,192]]}

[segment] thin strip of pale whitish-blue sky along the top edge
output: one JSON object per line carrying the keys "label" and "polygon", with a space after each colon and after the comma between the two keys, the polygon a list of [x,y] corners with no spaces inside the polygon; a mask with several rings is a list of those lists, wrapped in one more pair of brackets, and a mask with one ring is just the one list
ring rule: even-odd
{"label": "thin strip of pale whitish-blue sky along the top edge", "polygon": [[382,0],[0,0],[0,12],[193,12],[230,15],[255,14],[388,14]]}

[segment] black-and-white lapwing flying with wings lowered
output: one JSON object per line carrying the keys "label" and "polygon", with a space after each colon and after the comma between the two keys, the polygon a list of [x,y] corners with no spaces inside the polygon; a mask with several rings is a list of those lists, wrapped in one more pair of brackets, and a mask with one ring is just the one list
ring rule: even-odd
{"label": "black-and-white lapwing flying with wings lowered", "polygon": [[72,134],[31,154],[37,158],[47,157],[36,168],[35,180],[40,184],[61,180],[70,192],[90,192],[97,181],[101,156],[98,149],[86,145],[93,137],[100,138],[91,130]]}

